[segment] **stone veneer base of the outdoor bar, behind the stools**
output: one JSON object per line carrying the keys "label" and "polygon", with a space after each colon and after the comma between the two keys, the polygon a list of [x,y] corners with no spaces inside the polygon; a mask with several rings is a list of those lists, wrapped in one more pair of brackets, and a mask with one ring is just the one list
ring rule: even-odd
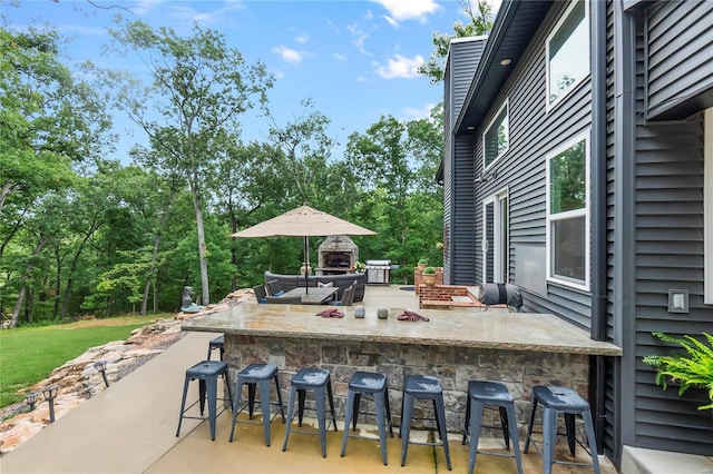
{"label": "stone veneer base of the outdoor bar, behind the stools", "polygon": [[[314,366],[331,371],[335,388],[334,402],[340,419],[343,419],[344,415],[348,383],[355,372],[373,371],[387,374],[395,425],[400,425],[403,374],[437,375],[441,378],[443,387],[448,431],[452,433],[462,431],[466,389],[468,381],[471,379],[501,382],[508,387],[515,397],[518,424],[522,433],[527,424],[534,385],[568,386],[585,398],[588,389],[589,356],[586,354],[226,334],[225,359],[232,375],[251,363],[276,364],[281,371],[283,399],[286,399],[285,387],[290,386],[291,376],[299,368]],[[430,405],[421,407],[426,416],[432,416]],[[496,413],[486,411],[484,425],[497,422],[499,418]],[[417,414],[422,415],[423,413]],[[414,426],[418,427],[419,424]]]}

